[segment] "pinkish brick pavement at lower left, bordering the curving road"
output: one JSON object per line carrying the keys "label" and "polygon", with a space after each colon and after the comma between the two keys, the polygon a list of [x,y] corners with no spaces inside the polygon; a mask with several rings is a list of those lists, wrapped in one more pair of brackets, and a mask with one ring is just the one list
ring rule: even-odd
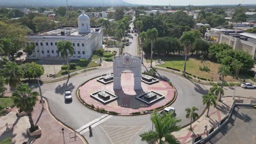
{"label": "pinkish brick pavement at lower left, bordering the curving road", "polygon": [[[45,105],[45,107],[47,106]],[[74,131],[69,130],[68,128],[64,127],[62,124],[57,122],[50,115],[48,109],[41,111],[40,108],[41,108],[41,104],[37,103],[37,105],[34,107],[34,111],[32,112],[32,117],[33,117],[34,124],[37,123],[37,125],[42,129],[42,135],[38,139],[36,139],[33,143],[35,144],[64,143],[63,135],[61,132],[62,128],[64,128],[65,143],[74,143],[74,144],[84,143],[79,136],[77,136],[76,140],[74,140]]]}

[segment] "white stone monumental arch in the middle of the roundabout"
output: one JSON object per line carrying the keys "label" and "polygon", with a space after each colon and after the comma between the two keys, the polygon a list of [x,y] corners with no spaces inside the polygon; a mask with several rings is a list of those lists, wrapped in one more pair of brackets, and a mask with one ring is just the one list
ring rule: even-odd
{"label": "white stone monumental arch in the middle of the roundabout", "polygon": [[113,61],[114,89],[121,89],[121,73],[125,70],[132,71],[134,77],[134,89],[141,89],[141,58],[125,53]]}

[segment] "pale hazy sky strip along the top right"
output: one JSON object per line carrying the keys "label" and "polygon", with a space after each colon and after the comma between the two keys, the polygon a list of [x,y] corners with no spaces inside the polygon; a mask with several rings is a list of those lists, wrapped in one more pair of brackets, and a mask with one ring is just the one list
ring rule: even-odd
{"label": "pale hazy sky strip along the top right", "polygon": [[213,4],[255,4],[256,0],[124,0],[134,4],[149,5],[213,5]]}

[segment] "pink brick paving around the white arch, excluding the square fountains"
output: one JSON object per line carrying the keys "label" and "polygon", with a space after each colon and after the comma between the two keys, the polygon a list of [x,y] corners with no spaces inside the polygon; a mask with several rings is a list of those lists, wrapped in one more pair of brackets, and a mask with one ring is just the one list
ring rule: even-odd
{"label": "pink brick paving around the white arch, excluding the square fountains", "polygon": [[[155,109],[156,107],[165,105],[174,97],[174,88],[171,87],[166,81],[160,80],[158,83],[154,83],[152,85],[147,85],[146,83],[142,82],[142,90],[139,91],[135,91],[133,89],[133,81],[134,79],[132,73],[123,73],[121,75],[122,89],[114,90],[113,82],[104,85],[103,83],[97,82],[97,79],[93,79],[80,87],[80,96],[86,103],[90,105],[93,104],[95,107],[102,107],[107,111],[115,111],[123,115],[129,115],[132,112]],[[102,104],[100,101],[90,97],[91,93],[100,91],[102,89],[117,95],[119,98],[108,104]],[[149,91],[155,91],[163,94],[165,95],[165,98],[152,105],[145,104],[136,99],[136,96]]]}

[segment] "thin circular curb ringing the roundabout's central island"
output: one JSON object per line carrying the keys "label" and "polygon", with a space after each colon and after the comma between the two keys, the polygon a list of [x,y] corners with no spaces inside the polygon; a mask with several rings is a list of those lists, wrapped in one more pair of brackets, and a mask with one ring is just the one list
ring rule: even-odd
{"label": "thin circular curb ringing the roundabout's central island", "polygon": [[[104,75],[101,75],[101,76],[104,76]],[[89,109],[91,109],[91,110],[94,110],[94,111],[96,111],[96,109],[92,109],[90,106],[88,106],[88,105],[86,105],[83,101],[82,101],[82,99],[81,98],[79,98],[79,95],[80,95],[80,87],[81,86],[83,86],[86,82],[88,82],[88,81],[90,81],[90,80],[93,80],[93,79],[96,79],[97,77],[101,77],[101,76],[96,76],[96,77],[94,77],[94,78],[92,78],[92,79],[89,79],[89,80],[87,80],[87,81],[85,81],[84,83],[82,83],[82,85],[80,85],[78,88],[77,88],[77,90],[76,90],[76,92],[75,92],[75,94],[76,94],[76,97],[78,98],[78,100],[80,101],[80,103],[82,103],[84,106],[86,106],[86,107],[88,107]],[[162,78],[160,78],[159,77],[159,79],[161,79],[161,80],[164,80],[164,79],[162,79]],[[166,81],[166,80],[164,80],[164,81]],[[168,82],[168,81],[166,81],[166,82]],[[170,84],[169,84],[170,85]],[[174,95],[174,97],[172,98],[172,100],[171,100],[171,103],[170,104],[168,104],[168,105],[166,105],[166,106],[164,106],[164,107],[162,107],[162,108],[160,108],[160,109],[156,109],[157,111],[161,111],[161,110],[164,110],[165,109],[165,107],[168,107],[168,106],[170,106],[170,105],[172,105],[173,103],[174,103],[174,101],[176,100],[176,98],[177,98],[177,95],[178,95],[178,92],[177,92],[177,89],[173,86],[173,85],[171,85],[171,87],[173,87],[174,88],[174,93],[176,93],[175,95]],[[169,101],[170,102],[170,101]],[[167,103],[166,103],[167,104]],[[100,112],[100,113],[106,113],[106,114],[108,114],[108,115],[113,115],[113,116],[141,116],[141,115],[147,115],[147,114],[149,114],[149,113],[153,113],[153,111],[154,111],[155,109],[153,109],[152,111],[149,111],[148,113],[139,113],[139,114],[136,114],[136,115],[113,115],[112,113],[108,113],[108,112]],[[98,112],[98,111],[96,111],[96,112]]]}

